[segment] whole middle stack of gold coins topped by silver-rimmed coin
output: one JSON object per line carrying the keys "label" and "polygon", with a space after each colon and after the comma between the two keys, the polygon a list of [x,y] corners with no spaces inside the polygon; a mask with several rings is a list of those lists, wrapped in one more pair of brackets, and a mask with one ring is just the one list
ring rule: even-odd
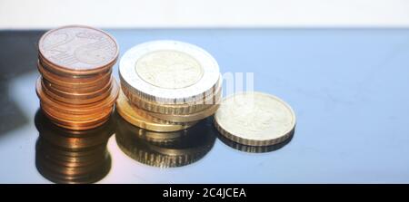
{"label": "whole middle stack of gold coins topped by silver-rimmed coin", "polygon": [[142,43],[120,62],[119,114],[146,130],[183,130],[214,114],[219,67],[205,50],[175,41]]}

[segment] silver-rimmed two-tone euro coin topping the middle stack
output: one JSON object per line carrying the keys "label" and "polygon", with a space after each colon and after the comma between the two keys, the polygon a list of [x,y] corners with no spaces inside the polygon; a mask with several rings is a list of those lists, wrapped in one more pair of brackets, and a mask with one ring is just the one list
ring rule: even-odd
{"label": "silver-rimmed two-tone euro coin topping the middle stack", "polygon": [[219,66],[209,53],[177,41],[136,45],[121,58],[119,75],[123,88],[161,104],[203,100],[220,82]]}

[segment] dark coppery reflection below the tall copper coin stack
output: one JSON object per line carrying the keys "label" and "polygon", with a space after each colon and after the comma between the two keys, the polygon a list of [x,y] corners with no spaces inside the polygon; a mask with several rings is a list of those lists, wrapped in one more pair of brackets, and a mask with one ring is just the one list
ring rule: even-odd
{"label": "dark coppery reflection below the tall copper coin stack", "polygon": [[112,120],[93,130],[65,130],[35,115],[40,133],[35,151],[38,171],[55,183],[93,183],[111,168],[106,142],[114,133]]}

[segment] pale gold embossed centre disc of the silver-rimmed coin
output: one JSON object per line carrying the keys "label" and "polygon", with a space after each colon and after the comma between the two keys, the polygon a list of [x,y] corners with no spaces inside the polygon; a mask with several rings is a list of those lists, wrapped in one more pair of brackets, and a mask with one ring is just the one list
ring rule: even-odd
{"label": "pale gold embossed centre disc of the silver-rimmed coin", "polygon": [[195,58],[167,50],[145,54],[135,63],[135,71],[145,82],[166,89],[191,86],[203,76],[203,68]]}

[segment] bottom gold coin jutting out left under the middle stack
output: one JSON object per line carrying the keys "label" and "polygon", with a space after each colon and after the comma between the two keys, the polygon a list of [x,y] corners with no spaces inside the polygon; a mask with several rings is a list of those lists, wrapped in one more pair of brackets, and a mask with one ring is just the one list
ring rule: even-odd
{"label": "bottom gold coin jutting out left under the middle stack", "polygon": [[138,109],[132,105],[125,97],[125,94],[121,91],[118,99],[116,100],[116,111],[121,115],[126,121],[132,123],[133,125],[143,128],[145,130],[153,131],[176,131],[184,130],[193,125],[196,122],[187,123],[171,123],[168,121],[160,121],[154,117],[146,114],[145,111]]}

